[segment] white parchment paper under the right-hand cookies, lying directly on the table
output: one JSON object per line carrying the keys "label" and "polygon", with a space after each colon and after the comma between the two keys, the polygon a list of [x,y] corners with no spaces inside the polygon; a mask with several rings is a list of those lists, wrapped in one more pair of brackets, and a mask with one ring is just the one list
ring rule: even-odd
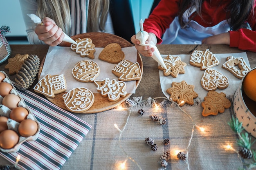
{"label": "white parchment paper under the right-hand cookies, lying directly on the table", "polygon": [[[249,65],[249,60],[247,58],[247,55],[245,52],[243,53],[226,53],[226,54],[215,54],[218,60],[220,61],[220,64],[218,66],[212,67],[212,69],[222,73],[229,79],[229,86],[225,89],[216,89],[216,92],[220,93],[223,92],[226,94],[226,96],[234,95],[236,89],[238,88],[241,79],[236,78],[231,72],[225,70],[222,68],[222,65],[226,62],[226,59],[228,56],[234,56],[234,57],[243,57],[245,59],[245,62],[247,65]],[[162,55],[163,58],[166,58],[167,55]],[[182,62],[186,62],[187,66],[184,67],[185,74],[179,74],[177,78],[173,78],[170,76],[164,76],[164,72],[159,70],[160,75],[160,83],[161,88],[164,93],[164,95],[169,99],[170,95],[166,92],[168,88],[171,88],[172,82],[182,82],[182,80],[185,80],[187,84],[191,84],[195,86],[194,91],[198,93],[198,97],[203,101],[204,97],[207,95],[208,91],[204,90],[201,86],[201,79],[203,76],[204,71],[200,70],[200,67],[191,66],[189,64],[190,56],[191,55],[173,55],[173,56],[180,56]]]}

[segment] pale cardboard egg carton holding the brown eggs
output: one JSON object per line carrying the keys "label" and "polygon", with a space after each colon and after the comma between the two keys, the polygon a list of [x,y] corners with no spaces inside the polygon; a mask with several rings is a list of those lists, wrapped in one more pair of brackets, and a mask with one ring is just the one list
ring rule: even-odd
{"label": "pale cardboard egg carton holding the brown eggs", "polygon": [[[37,129],[35,135],[29,136],[29,137],[22,137],[22,136],[19,135],[18,144],[16,144],[13,148],[11,148],[11,149],[0,148],[0,150],[2,152],[18,152],[18,150],[20,149],[20,146],[21,146],[21,144],[23,142],[25,142],[25,141],[34,141],[34,140],[36,140],[38,138],[39,131],[40,131],[40,124],[37,121],[36,117],[31,112],[31,110],[29,109],[29,107],[26,105],[24,99],[19,95],[18,91],[13,86],[13,83],[11,82],[11,80],[9,79],[7,74],[4,71],[0,71],[0,72],[2,72],[5,75],[5,79],[3,80],[3,82],[9,83],[13,87],[13,89],[11,90],[10,93],[11,94],[15,94],[18,97],[20,97],[20,102],[18,103],[18,106],[26,108],[28,110],[29,114],[27,115],[27,119],[32,119],[32,120],[36,121],[36,123],[38,125],[38,129]],[[16,131],[18,133],[18,126],[19,126],[20,123],[18,123],[17,121],[9,118],[11,110],[7,106],[2,105],[2,99],[3,99],[3,97],[0,95],[0,116],[8,117],[8,121],[7,121],[8,129],[14,130],[14,131]]]}

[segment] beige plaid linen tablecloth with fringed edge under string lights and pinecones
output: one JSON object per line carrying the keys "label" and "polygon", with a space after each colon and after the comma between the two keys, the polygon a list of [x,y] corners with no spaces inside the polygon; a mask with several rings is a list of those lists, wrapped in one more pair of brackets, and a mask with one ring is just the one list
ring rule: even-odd
{"label": "beige plaid linen tablecloth with fringed edge under string lights and pinecones", "polygon": [[[168,100],[161,103],[157,102],[157,99],[142,97],[131,100],[140,102],[130,111],[124,110],[127,107],[120,109],[117,106],[96,114],[76,114],[87,120],[92,125],[92,130],[62,170],[74,167],[84,170],[117,170],[127,158],[131,159],[126,161],[125,170],[157,170],[163,168],[160,165],[160,157],[164,151],[170,151],[172,155],[167,170],[243,168],[244,160],[234,151],[238,150],[236,134],[227,124],[233,115],[232,108],[225,109],[224,113],[216,116],[203,117],[201,103],[196,100],[195,105],[185,104],[181,108]],[[155,108],[153,101],[158,104],[159,109]],[[144,110],[141,116],[137,113],[139,109]],[[150,120],[149,116],[152,114],[164,117],[166,124],[159,125]],[[114,124],[123,130],[122,133]],[[197,126],[191,139],[194,124]],[[205,131],[201,132],[199,127]],[[151,137],[157,144],[155,152],[146,144],[147,137]],[[170,140],[170,146],[163,144],[165,138]],[[233,150],[227,150],[227,145],[232,146]],[[177,159],[177,150],[188,154],[187,162]]]}

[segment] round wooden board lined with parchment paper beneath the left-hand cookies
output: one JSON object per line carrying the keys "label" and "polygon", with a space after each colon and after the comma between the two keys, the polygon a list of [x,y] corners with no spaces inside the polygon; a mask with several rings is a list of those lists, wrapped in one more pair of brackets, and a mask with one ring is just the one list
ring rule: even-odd
{"label": "round wooden board lined with parchment paper beneath the left-hand cookies", "polygon": [[[66,96],[67,93],[70,92],[70,90],[74,92],[75,90],[77,90],[77,88],[87,88],[87,90],[91,91],[92,94],[94,95],[94,102],[90,106],[90,108],[82,112],[75,112],[71,110],[69,111],[73,113],[82,113],[82,114],[99,113],[99,112],[114,108],[115,106],[121,104],[126,99],[128,99],[128,97],[130,97],[132,93],[135,93],[135,89],[139,85],[141,78],[128,82],[128,83],[131,83],[132,85],[126,84],[127,94],[124,97],[121,96],[119,99],[110,102],[108,97],[103,97],[99,91],[96,91],[97,84],[94,84],[93,82],[80,82],[74,79],[74,77],[72,76],[72,69],[77,63],[81,61],[83,62],[83,64],[87,62],[96,62],[97,64],[99,64],[99,67],[100,67],[100,75],[99,77],[97,77],[97,80],[106,81],[108,80],[108,78],[109,80],[112,80],[112,81],[114,81],[113,79],[118,80],[118,76],[115,75],[113,72],[111,72],[112,68],[114,68],[118,63],[108,63],[104,60],[99,60],[99,55],[101,53],[101,50],[103,51],[103,49],[105,49],[106,46],[112,43],[117,43],[121,46],[122,48],[121,50],[124,51],[125,53],[125,60],[129,60],[135,64],[138,64],[141,70],[141,76],[142,76],[143,62],[142,62],[141,56],[137,51],[135,51],[135,47],[133,47],[132,44],[130,44],[130,42],[116,35],[107,34],[107,33],[85,33],[81,35],[75,35],[72,38],[74,40],[76,40],[77,38],[81,38],[81,39],[90,38],[92,40],[92,43],[95,45],[95,49],[96,49],[96,52],[94,53],[94,59],[90,59],[89,57],[81,57],[80,55],[74,53],[74,51],[70,49],[71,44],[64,44],[64,46],[50,47],[47,55],[45,56],[44,60],[41,62],[41,66],[38,71],[38,80],[40,81],[47,74],[49,74],[50,76],[54,76],[54,75],[58,76],[63,74],[67,81],[67,88],[69,88],[65,92],[55,94],[54,97],[45,96],[50,102],[52,102],[56,106],[59,106],[65,110],[68,110],[67,107],[65,106],[63,95]],[[132,60],[130,60],[127,55],[132,56]],[[59,57],[61,57],[61,59],[59,59]],[[69,57],[72,59],[70,59]],[[61,60],[61,62],[55,62],[56,60]],[[54,67],[53,65],[56,67]],[[105,71],[104,69],[107,71]],[[107,74],[111,75],[112,77],[106,76]],[[130,91],[128,91],[127,88],[129,88]]]}

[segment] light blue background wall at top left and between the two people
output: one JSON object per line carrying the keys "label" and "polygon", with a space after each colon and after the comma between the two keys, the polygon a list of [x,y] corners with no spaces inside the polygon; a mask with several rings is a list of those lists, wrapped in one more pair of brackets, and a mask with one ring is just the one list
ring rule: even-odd
{"label": "light blue background wall at top left and between the two people", "polygon": [[[135,32],[139,28],[139,20],[148,18],[153,0],[130,0],[135,24]],[[26,36],[26,27],[22,18],[19,0],[1,0],[0,26],[10,26],[11,33],[6,36]]]}

